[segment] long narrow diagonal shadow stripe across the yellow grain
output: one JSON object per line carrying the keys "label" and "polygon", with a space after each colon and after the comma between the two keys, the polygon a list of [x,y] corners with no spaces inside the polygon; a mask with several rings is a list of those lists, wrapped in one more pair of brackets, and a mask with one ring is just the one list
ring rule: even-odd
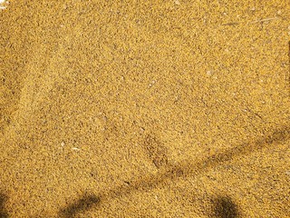
{"label": "long narrow diagonal shadow stripe across the yellow grain", "polygon": [[[138,181],[126,183],[98,196],[92,195],[93,199],[98,199],[98,201],[95,201],[93,205],[106,203],[113,198],[129,195],[134,192],[146,191],[157,187],[160,184],[165,185],[170,181],[177,180],[179,177],[198,176],[198,174],[205,173],[209,169],[218,166],[218,164],[229,162],[238,156],[252,154],[262,148],[270,147],[274,143],[285,142],[288,139],[290,139],[290,126],[283,126],[276,129],[272,134],[268,134],[254,142],[239,144],[233,148],[227,149],[225,152],[213,154],[196,163],[188,160],[186,163],[181,163],[179,165],[167,165],[163,170],[160,169],[160,173],[157,175],[146,174]],[[79,202],[82,201],[81,198]],[[91,208],[91,206],[86,207],[86,205],[83,206],[82,203],[73,203],[66,208],[73,208],[73,213],[70,213],[71,217],[73,217],[72,214],[83,212]],[[64,209],[64,211],[66,210],[67,209]]]}

